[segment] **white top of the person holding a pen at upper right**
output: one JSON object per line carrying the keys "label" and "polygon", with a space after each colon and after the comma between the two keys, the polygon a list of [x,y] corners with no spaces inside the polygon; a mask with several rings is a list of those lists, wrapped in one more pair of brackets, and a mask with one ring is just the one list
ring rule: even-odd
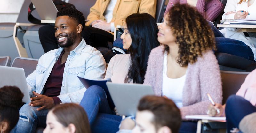
{"label": "white top of the person holding a pen at upper right", "polygon": [[[246,2],[242,2],[241,4],[238,4],[239,1],[240,0],[227,1],[226,7],[224,9],[225,13],[222,16],[222,19],[234,19],[235,13],[229,15],[225,14],[229,11],[237,12],[239,10],[244,10],[250,13],[250,15],[247,15],[246,19],[256,19],[256,0],[249,7],[248,0],[246,0]],[[220,32],[224,35],[224,37],[236,39],[248,45],[252,49],[252,52],[254,54],[254,60],[256,61],[256,38],[245,37],[242,29],[224,28],[220,30]]]}

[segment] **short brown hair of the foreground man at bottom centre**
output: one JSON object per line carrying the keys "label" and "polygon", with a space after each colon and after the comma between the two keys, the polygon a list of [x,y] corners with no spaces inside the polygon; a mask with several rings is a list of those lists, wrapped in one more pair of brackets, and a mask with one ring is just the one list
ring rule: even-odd
{"label": "short brown hair of the foreground man at bottom centre", "polygon": [[180,109],[167,98],[158,96],[145,96],[138,105],[138,111],[148,110],[154,114],[152,120],[156,129],[167,126],[172,133],[178,133],[181,125]]}

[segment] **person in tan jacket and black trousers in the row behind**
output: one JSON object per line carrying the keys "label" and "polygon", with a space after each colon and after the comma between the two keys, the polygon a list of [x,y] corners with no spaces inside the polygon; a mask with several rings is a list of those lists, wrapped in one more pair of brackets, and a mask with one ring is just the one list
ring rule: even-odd
{"label": "person in tan jacket and black trousers in the row behind", "polygon": [[[82,37],[92,47],[106,47],[107,42],[113,42],[116,25],[124,25],[125,18],[133,13],[148,13],[155,17],[156,3],[157,0],[96,0],[90,8]],[[59,48],[54,26],[42,26],[38,32],[45,53]]]}

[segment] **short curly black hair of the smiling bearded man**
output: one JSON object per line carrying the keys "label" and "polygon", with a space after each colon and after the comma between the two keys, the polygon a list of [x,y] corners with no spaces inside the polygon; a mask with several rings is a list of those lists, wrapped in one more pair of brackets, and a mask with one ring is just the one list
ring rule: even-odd
{"label": "short curly black hair of the smiling bearded man", "polygon": [[72,7],[64,8],[57,13],[57,17],[59,17],[59,16],[68,16],[68,17],[74,19],[77,22],[77,25],[82,24],[82,26],[83,26],[82,30],[84,30],[85,18],[81,11],[79,11],[75,8],[72,8]]}

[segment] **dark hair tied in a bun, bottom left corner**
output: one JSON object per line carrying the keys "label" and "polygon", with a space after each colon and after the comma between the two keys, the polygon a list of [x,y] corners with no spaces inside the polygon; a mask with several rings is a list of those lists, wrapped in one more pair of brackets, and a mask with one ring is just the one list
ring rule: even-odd
{"label": "dark hair tied in a bun, bottom left corner", "polygon": [[8,122],[9,132],[19,120],[19,109],[22,106],[23,93],[16,86],[0,88],[0,122]]}

